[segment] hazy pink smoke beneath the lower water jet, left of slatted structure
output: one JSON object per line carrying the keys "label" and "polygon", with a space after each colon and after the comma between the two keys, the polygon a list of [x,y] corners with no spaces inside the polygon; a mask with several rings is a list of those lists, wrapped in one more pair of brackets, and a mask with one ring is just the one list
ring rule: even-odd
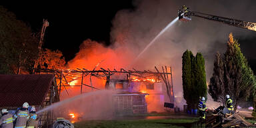
{"label": "hazy pink smoke beneath the lower water jet, left of slatted structure", "polygon": [[[64,117],[74,122],[89,119],[113,119],[115,112],[113,94],[115,93],[117,92],[113,90],[83,93],[59,103],[54,103],[41,111],[53,109],[55,117]],[[71,118],[69,115],[71,113],[75,117]]]}

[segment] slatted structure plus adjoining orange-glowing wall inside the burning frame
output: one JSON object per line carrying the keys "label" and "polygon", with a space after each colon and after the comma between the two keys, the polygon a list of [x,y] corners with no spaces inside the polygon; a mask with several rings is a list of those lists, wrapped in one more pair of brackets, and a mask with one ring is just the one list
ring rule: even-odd
{"label": "slatted structure plus adjoining orange-glowing wall inside the burning frame", "polygon": [[168,99],[166,89],[159,79],[115,76],[109,79],[109,89],[120,93],[113,95],[117,115],[143,114],[165,111]]}

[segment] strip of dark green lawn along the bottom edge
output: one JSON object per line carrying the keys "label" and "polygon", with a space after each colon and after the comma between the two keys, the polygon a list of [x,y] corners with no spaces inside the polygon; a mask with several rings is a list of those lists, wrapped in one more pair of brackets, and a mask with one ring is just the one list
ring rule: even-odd
{"label": "strip of dark green lawn along the bottom edge", "polygon": [[198,121],[197,118],[187,119],[137,119],[137,120],[111,120],[111,121],[82,121],[75,123],[75,128],[184,128],[191,127],[192,123]]}

